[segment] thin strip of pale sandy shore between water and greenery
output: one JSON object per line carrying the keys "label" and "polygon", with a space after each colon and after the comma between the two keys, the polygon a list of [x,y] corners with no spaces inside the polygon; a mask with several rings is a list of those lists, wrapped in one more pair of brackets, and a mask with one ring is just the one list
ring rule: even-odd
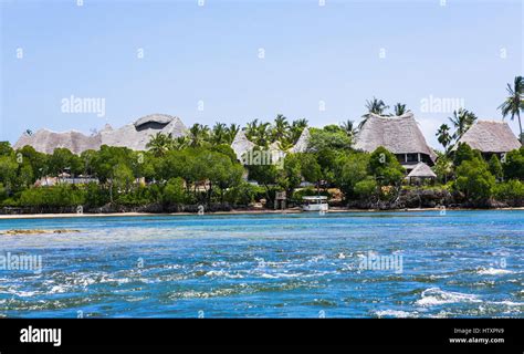
{"label": "thin strip of pale sandy shore between water and greenery", "polygon": [[[343,212],[420,212],[420,211],[440,211],[440,208],[406,208],[406,209],[329,209],[326,214]],[[491,208],[491,209],[472,209],[472,208],[447,208],[449,211],[495,211],[495,210],[524,210],[524,207],[515,208]],[[303,214],[301,209],[283,209],[283,210],[230,210],[230,211],[208,211],[208,215],[271,215],[271,214]],[[315,214],[315,211],[310,211]],[[0,215],[0,220],[11,219],[54,219],[54,218],[111,218],[111,217],[158,217],[158,216],[198,216],[196,212],[108,212],[108,214],[19,214],[19,215]]]}

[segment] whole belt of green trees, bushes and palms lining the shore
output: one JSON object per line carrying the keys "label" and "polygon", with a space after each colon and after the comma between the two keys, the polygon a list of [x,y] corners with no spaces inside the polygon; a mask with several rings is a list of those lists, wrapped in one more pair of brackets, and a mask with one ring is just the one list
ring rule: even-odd
{"label": "whole belt of green trees, bushes and palms lining the shore", "polygon": [[[515,87],[509,86],[511,96],[501,106],[503,115],[520,119],[523,105],[516,104],[512,94],[517,90],[522,95],[523,86],[522,80],[516,79]],[[367,108],[364,121],[370,113],[391,115],[385,113],[388,106],[381,100],[368,101]],[[409,112],[400,103],[394,110],[396,115]],[[486,157],[465,144],[457,144],[475,119],[470,111],[459,110],[450,117],[451,127],[440,126],[437,136],[443,152],[437,152],[439,157],[433,166],[437,180],[415,187],[407,184],[404,167],[386,148],[373,153],[354,149],[358,128],[352,121],[340,126],[311,127],[307,150],[297,154],[290,149],[307,121],[289,123],[286,117],[277,115],[273,123],[256,119],[248,123],[244,133],[256,144],[255,150],[264,152],[276,144],[286,152],[283,160],[271,165],[243,166],[230,147],[241,127],[222,123],[212,128],[195,124],[187,136],[179,138],[158,134],[146,152],[102,146],[80,156],[65,148],[45,155],[31,146],[14,150],[9,143],[0,143],[0,206],[82,206],[95,210],[107,206],[115,209],[156,205],[156,210],[180,210],[179,206],[240,207],[265,201],[271,208],[275,192],[286,191],[292,205],[304,195],[324,194],[333,201],[342,197],[340,206],[370,207],[386,202],[394,208],[402,194],[415,190],[450,195],[451,199],[441,198],[442,204],[452,200],[480,207],[500,201],[523,206],[524,147],[505,156]],[[60,183],[59,178],[54,186],[45,186],[65,174],[96,180],[71,185]]]}

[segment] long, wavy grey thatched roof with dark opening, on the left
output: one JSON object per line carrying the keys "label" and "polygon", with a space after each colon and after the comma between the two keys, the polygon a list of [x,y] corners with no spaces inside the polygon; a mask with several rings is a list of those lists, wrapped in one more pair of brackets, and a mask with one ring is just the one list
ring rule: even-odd
{"label": "long, wavy grey thatched roof with dark opening, on the left", "polygon": [[65,147],[75,154],[81,154],[87,149],[99,149],[102,145],[145,150],[150,137],[157,133],[179,137],[186,134],[186,126],[178,117],[153,114],[118,129],[106,125],[104,129],[92,136],[75,131],[56,133],[44,128],[32,135],[23,134],[14,144],[14,148],[30,145],[35,150],[45,154],[52,154],[57,147]]}

